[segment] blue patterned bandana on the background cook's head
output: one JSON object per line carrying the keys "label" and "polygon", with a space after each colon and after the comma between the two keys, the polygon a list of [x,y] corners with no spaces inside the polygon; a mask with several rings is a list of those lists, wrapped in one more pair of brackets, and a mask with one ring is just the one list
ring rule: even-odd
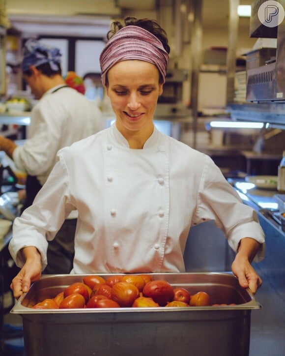
{"label": "blue patterned bandana on the background cook's head", "polygon": [[27,71],[31,65],[38,67],[44,63],[50,63],[51,69],[57,71],[61,62],[60,50],[51,47],[35,39],[29,39],[23,49],[21,69]]}

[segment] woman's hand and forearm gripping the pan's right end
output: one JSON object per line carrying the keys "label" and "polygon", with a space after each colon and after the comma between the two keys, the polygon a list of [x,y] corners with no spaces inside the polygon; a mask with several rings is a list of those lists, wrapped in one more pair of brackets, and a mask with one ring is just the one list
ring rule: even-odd
{"label": "woman's hand and forearm gripping the pan's right end", "polygon": [[262,284],[261,278],[251,265],[259,245],[256,240],[250,237],[241,239],[239,250],[231,265],[231,270],[238,278],[240,286],[249,288],[252,294],[256,294],[257,289]]}

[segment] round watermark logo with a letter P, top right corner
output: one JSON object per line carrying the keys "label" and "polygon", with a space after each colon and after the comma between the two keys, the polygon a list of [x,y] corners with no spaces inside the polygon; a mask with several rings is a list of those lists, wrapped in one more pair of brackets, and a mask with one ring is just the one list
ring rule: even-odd
{"label": "round watermark logo with a letter P, top right corner", "polygon": [[282,23],[285,11],[279,2],[270,0],[260,5],[257,15],[264,26],[276,27]]}

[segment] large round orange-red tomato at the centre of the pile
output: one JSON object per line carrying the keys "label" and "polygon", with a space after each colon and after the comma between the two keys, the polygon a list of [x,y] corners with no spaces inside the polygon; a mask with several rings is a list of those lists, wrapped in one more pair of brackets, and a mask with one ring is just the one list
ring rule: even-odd
{"label": "large round orange-red tomato at the centre of the pile", "polygon": [[135,299],[140,296],[140,291],[132,283],[117,282],[112,287],[112,299],[122,307],[129,307],[133,305]]}

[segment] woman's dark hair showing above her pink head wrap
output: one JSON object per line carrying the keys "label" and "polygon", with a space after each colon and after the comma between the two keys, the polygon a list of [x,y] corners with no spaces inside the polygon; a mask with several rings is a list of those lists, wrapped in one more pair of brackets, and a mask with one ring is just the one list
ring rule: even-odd
{"label": "woman's dark hair showing above her pink head wrap", "polygon": [[166,52],[168,54],[170,53],[167,33],[155,20],[137,19],[136,17],[127,16],[124,19],[124,25],[122,25],[119,21],[114,21],[112,23],[113,29],[107,33],[107,38],[110,39],[118,30],[130,25],[141,27],[142,29],[147,30],[153,35],[155,35],[162,43]]}

